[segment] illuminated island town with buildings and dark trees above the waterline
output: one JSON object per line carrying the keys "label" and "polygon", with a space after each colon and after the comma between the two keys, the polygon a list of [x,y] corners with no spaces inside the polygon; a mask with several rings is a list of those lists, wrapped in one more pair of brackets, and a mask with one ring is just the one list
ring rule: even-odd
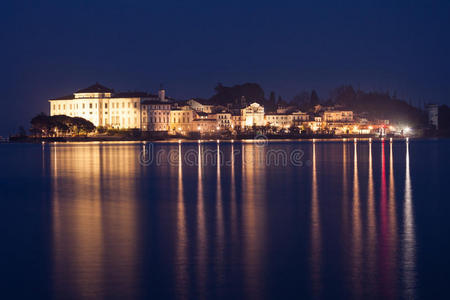
{"label": "illuminated island town with buildings and dark trees above the waterline", "polygon": [[[272,137],[405,137],[438,130],[438,106],[425,112],[383,93],[364,93],[351,86],[320,101],[313,90],[292,102],[269,98],[258,84],[218,84],[208,100],[177,100],[161,86],[157,93],[121,92],[95,83],[49,99],[49,116],[31,120],[32,138],[146,140],[245,139]],[[392,111],[395,111],[394,113]],[[412,130],[414,128],[414,130]],[[414,132],[413,132],[414,131]],[[24,129],[16,137],[26,136]]]}

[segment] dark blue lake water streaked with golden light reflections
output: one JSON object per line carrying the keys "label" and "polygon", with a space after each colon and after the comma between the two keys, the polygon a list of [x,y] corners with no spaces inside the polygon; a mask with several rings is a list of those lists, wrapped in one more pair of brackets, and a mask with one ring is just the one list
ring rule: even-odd
{"label": "dark blue lake water streaked with golden light reflections", "polygon": [[0,145],[2,299],[450,297],[448,140],[143,148]]}

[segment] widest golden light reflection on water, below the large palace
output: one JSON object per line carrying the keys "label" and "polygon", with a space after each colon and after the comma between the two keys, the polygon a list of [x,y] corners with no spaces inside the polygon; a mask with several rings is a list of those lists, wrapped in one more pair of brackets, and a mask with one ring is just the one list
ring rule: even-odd
{"label": "widest golden light reflection on water, below the large palace", "polygon": [[51,154],[56,298],[111,296],[115,290],[133,296],[138,236],[130,177],[137,153],[91,145],[53,147]]}

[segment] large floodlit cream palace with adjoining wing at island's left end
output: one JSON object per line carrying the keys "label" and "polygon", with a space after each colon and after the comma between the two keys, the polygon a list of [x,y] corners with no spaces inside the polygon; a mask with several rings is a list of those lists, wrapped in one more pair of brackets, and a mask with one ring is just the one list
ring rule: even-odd
{"label": "large floodlit cream palace with adjoining wing at island's left end", "polygon": [[[154,106],[152,101],[161,104]],[[116,93],[96,83],[71,95],[50,99],[49,102],[51,116],[81,117],[97,127],[150,131],[168,129],[170,104],[163,90],[158,95],[144,92]],[[161,119],[163,112],[164,117]]]}

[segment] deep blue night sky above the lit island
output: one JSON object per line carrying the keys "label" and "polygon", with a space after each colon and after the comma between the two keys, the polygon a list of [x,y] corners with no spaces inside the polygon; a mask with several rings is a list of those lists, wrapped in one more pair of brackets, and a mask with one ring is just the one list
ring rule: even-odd
{"label": "deep blue night sky above the lit island", "polygon": [[[450,103],[450,1],[8,1],[0,134],[96,81],[209,97],[257,82],[291,99],[334,87]],[[364,2],[364,3],[362,3]]]}

